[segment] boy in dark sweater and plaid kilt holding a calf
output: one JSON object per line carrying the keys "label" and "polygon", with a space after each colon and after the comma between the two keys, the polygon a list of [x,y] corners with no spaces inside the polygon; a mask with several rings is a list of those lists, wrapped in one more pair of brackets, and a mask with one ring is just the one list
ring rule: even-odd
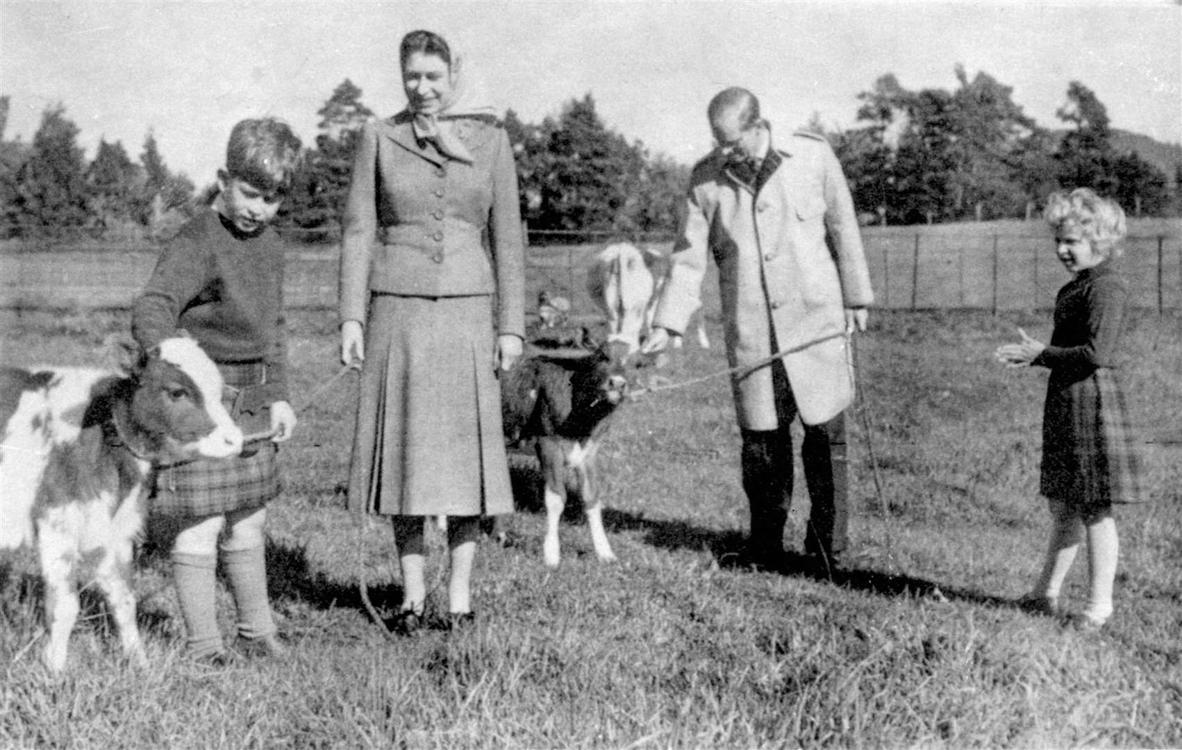
{"label": "boy in dark sweater and plaid kilt holding a calf", "polygon": [[238,608],[238,648],[281,657],[267,600],[266,503],[279,494],[277,443],[291,437],[282,330],[284,247],[268,228],[292,182],[300,142],[287,124],[247,119],[230,132],[212,210],[195,217],[161,255],[132,308],[131,332],[145,350],[177,328],[208,353],[236,394],[232,413],[245,433],[271,442],[242,456],[161,469],[152,515],[171,539],[173,578],[196,660],[230,653],[217,630],[217,552]]}

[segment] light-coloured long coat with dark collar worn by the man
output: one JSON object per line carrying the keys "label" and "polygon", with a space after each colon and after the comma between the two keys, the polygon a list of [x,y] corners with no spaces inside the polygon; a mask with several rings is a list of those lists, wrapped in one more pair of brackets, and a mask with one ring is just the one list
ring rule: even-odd
{"label": "light-coloured long coat with dark collar worn by the man", "polygon": [[[850,190],[829,144],[797,132],[778,152],[781,162],[758,193],[717,152],[694,167],[654,324],[684,331],[713,257],[732,366],[800,347],[784,366],[801,419],[819,424],[852,399],[845,308],[868,306],[873,294]],[[826,340],[810,345],[819,339]],[[733,387],[741,426],[779,426],[771,367]]]}

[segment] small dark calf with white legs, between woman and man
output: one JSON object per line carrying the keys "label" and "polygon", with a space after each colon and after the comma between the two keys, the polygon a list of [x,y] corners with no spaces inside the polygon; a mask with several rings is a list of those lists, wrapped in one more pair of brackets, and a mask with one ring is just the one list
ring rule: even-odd
{"label": "small dark calf with white legs, between woman and man", "polygon": [[558,523],[567,478],[583,500],[596,555],[616,559],[603,528],[603,500],[595,491],[595,463],[610,418],[628,393],[625,356],[619,341],[592,351],[539,351],[501,373],[506,442],[532,442],[538,454],[546,503],[543,556],[548,566],[561,557]]}

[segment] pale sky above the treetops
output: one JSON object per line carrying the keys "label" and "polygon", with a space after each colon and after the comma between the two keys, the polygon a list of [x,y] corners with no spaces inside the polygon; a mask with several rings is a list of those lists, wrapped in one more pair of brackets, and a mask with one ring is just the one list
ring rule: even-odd
{"label": "pale sky above the treetops", "polygon": [[1182,143],[1182,5],[1171,0],[0,0],[6,139],[31,141],[60,103],[92,157],[100,138],[138,158],[149,129],[199,187],[245,117],[312,144],[345,78],[387,117],[403,107],[397,47],[415,28],[465,57],[481,103],[540,123],[591,93],[606,125],[690,164],[712,146],[706,106],[739,85],[773,132],[816,113],[856,124],[857,96],[894,73],[910,90],[986,72],[1045,126],[1070,81],[1113,128]]}

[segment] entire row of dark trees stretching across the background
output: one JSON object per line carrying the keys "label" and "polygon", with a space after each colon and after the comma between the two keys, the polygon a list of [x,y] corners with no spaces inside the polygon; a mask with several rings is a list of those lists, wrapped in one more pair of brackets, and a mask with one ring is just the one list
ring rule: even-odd
{"label": "entire row of dark trees stretching across the background", "polygon": [[[1104,105],[1079,83],[1058,117],[1040,128],[987,73],[956,69],[954,91],[903,89],[883,76],[859,94],[855,128],[810,128],[833,144],[859,211],[883,223],[1028,217],[1061,187],[1092,187],[1135,215],[1174,215],[1177,196],[1165,175],[1112,143]],[[91,162],[78,128],[58,104],[31,143],[4,138],[8,98],[0,97],[0,236],[80,229],[168,234],[207,200],[171,172],[149,131],[138,161],[119,142],[102,141]],[[374,112],[344,80],[318,111],[314,144],[280,214],[280,224],[310,241],[336,235],[361,125]],[[515,151],[521,215],[532,229],[671,233],[689,168],[651,154],[605,126],[587,93],[540,124],[509,110],[505,126]],[[777,131],[779,132],[779,131]],[[1182,163],[1175,167],[1175,184]]]}

